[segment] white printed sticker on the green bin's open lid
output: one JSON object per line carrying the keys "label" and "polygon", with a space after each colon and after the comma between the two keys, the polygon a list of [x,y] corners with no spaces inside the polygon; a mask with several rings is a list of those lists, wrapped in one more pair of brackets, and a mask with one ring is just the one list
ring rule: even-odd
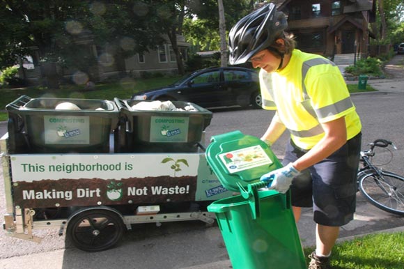
{"label": "white printed sticker on the green bin's open lid", "polygon": [[265,164],[272,164],[270,157],[258,145],[222,153],[219,157],[230,174]]}

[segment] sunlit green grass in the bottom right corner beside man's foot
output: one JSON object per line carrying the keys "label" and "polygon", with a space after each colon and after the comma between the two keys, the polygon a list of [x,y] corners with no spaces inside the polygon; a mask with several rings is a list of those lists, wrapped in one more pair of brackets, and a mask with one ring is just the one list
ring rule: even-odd
{"label": "sunlit green grass in the bottom right corner beside man's foot", "polygon": [[[313,248],[305,248],[307,256]],[[306,260],[309,263],[309,259]],[[331,260],[334,269],[403,269],[404,232],[375,233],[337,244]]]}

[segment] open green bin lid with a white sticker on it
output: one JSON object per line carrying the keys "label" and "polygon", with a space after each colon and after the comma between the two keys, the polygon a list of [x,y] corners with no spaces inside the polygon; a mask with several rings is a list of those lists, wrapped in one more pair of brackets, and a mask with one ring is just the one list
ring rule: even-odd
{"label": "open green bin lid with a white sticker on it", "polygon": [[240,192],[239,185],[247,189],[263,174],[282,167],[271,148],[258,137],[237,130],[215,135],[210,141],[206,160],[227,190]]}

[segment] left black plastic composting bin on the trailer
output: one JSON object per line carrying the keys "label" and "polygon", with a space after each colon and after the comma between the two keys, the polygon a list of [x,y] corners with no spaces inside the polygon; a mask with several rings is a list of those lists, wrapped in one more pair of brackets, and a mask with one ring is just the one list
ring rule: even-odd
{"label": "left black plastic composting bin on the trailer", "polygon": [[[80,110],[55,109],[70,102]],[[10,153],[109,153],[119,111],[109,100],[30,98],[6,106]]]}

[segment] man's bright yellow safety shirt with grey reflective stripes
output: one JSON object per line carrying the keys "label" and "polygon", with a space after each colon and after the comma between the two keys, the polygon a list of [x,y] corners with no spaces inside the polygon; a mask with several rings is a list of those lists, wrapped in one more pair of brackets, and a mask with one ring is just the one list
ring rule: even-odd
{"label": "man's bright yellow safety shirt with grey reflective stripes", "polygon": [[277,110],[293,142],[310,149],[324,137],[320,123],[345,116],[348,139],[362,129],[338,66],[323,56],[294,49],[283,70],[261,69],[263,108]]}

